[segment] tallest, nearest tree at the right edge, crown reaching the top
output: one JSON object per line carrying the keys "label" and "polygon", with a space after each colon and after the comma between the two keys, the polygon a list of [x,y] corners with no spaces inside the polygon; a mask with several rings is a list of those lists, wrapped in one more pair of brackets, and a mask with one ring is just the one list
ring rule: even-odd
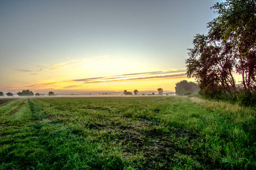
{"label": "tallest, nearest tree at the right edge, crown reaching the top", "polygon": [[226,0],[216,3],[218,17],[209,23],[209,36],[229,43],[242,75],[243,88],[256,90],[256,1]]}

